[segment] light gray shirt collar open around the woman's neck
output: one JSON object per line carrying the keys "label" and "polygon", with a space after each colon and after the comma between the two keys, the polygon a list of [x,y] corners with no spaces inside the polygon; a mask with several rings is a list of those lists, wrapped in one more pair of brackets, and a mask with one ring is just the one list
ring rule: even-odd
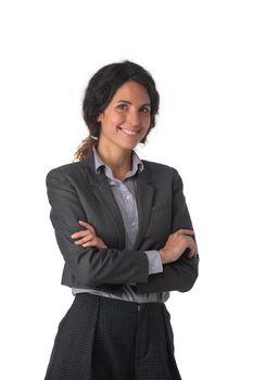
{"label": "light gray shirt collar open around the woman's neck", "polygon": [[[94,169],[97,174],[100,174],[101,170],[104,168],[105,170],[105,175],[107,177],[113,178],[113,174],[111,168],[105,165],[105,163],[103,162],[103,160],[101,159],[101,156],[99,155],[99,153],[97,152],[97,149],[94,148],[94,145],[92,147],[92,151],[94,154]],[[132,150],[131,151],[131,170],[127,173],[126,178],[134,176],[137,172],[140,173],[143,170],[144,165],[142,163],[142,161],[140,160],[140,157],[138,156],[138,154]]]}

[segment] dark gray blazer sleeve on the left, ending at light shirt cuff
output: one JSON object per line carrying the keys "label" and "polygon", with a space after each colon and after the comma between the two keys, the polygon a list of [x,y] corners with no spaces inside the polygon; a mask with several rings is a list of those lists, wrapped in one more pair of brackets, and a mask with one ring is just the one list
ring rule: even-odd
{"label": "dark gray blazer sleeve on the left, ending at light shirt cuff", "polygon": [[78,194],[61,169],[51,169],[46,177],[50,219],[59,249],[71,273],[80,283],[147,282],[149,262],[144,251],[84,248],[71,236],[83,230],[78,220],[87,220]]}

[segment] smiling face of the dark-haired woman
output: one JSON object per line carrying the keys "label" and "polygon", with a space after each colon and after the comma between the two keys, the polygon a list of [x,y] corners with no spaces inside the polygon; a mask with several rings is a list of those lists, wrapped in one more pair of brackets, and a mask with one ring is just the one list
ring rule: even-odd
{"label": "smiling face of the dark-haired woman", "polygon": [[150,97],[136,81],[126,81],[99,115],[99,145],[131,150],[146,136],[151,122]]}

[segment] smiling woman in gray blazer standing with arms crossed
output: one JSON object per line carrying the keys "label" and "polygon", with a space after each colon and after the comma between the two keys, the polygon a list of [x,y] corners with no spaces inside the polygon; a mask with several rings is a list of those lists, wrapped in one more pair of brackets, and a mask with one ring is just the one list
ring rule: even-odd
{"label": "smiling woman in gray blazer standing with arms crossed", "polygon": [[62,284],[75,299],[46,380],[180,379],[165,302],[192,288],[198,248],[180,175],[134,150],[155,126],[159,101],[143,67],[102,67],[86,89],[90,135],[77,161],[47,175]]}

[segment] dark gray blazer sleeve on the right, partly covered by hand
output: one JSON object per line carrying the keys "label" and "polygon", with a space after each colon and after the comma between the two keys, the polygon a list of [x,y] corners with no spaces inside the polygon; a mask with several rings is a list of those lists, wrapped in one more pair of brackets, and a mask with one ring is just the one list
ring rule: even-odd
{"label": "dark gray blazer sleeve on the right, partly covered by hand", "polygon": [[[175,169],[173,180],[173,220],[172,233],[180,228],[191,229],[192,221],[184,194],[184,183],[179,173]],[[195,236],[193,236],[194,241]],[[164,264],[162,274],[149,276],[149,282],[137,283],[137,292],[163,292],[177,290],[189,291],[199,276],[199,254],[194,258],[189,258],[190,249],[186,249],[182,255],[174,263]]]}

